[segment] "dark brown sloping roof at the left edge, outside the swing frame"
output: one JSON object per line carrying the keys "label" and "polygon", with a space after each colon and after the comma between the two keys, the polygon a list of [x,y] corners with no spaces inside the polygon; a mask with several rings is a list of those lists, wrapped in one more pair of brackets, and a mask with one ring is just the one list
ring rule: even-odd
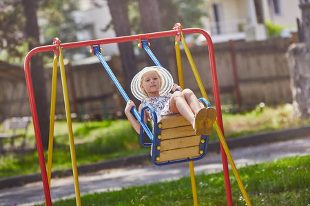
{"label": "dark brown sloping roof at the left edge, outside the swing frame", "polygon": [[0,60],[0,80],[20,81],[25,80],[23,67],[10,65],[8,62]]}

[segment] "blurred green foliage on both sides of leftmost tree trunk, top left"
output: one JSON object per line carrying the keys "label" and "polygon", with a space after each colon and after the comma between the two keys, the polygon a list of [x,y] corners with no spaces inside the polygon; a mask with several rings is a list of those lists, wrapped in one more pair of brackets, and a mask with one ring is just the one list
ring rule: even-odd
{"label": "blurred green foliage on both sides of leftmost tree trunk, top left", "polygon": [[[76,5],[78,2],[71,0],[39,1],[38,19],[44,22],[40,30],[46,43],[51,44],[54,37],[59,37],[65,42],[76,41],[78,26],[72,16],[72,11],[77,9]],[[23,1],[0,2],[0,58],[2,60],[12,64],[22,64],[23,57],[28,53],[30,41],[24,34],[25,21]]]}

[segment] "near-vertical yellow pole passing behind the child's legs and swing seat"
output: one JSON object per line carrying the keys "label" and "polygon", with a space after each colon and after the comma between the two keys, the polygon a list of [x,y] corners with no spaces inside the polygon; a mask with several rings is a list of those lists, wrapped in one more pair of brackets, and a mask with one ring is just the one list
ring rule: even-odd
{"label": "near-vertical yellow pole passing behind the child's legs and swing seat", "polygon": [[[180,59],[180,45],[178,44],[178,41],[176,41],[176,64],[178,65],[178,82],[180,84],[180,87],[184,89],[182,63]],[[195,172],[194,172],[194,163],[192,161],[189,161],[189,172],[191,174],[194,206],[198,206],[198,196],[197,196],[197,187],[196,187]]]}

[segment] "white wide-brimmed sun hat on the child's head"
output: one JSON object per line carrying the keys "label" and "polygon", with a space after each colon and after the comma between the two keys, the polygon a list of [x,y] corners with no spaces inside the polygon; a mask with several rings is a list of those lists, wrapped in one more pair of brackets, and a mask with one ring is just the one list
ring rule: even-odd
{"label": "white wide-brimmed sun hat on the child's head", "polygon": [[149,71],[157,71],[161,76],[161,89],[159,89],[159,95],[163,95],[165,93],[169,93],[171,91],[174,79],[172,75],[167,71],[167,69],[158,66],[145,67],[141,71],[139,71],[136,76],[132,79],[132,83],[130,84],[130,89],[132,89],[132,94],[138,100],[142,100],[143,98],[148,98],[147,94],[141,89],[141,79],[143,74]]}

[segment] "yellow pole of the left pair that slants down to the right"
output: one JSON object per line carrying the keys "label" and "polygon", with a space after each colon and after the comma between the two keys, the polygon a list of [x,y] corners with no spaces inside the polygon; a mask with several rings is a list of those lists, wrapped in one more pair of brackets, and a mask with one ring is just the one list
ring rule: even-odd
{"label": "yellow pole of the left pair that slants down to the right", "polygon": [[63,85],[63,99],[65,101],[65,116],[67,118],[67,126],[68,126],[68,133],[69,133],[69,141],[70,141],[70,152],[71,152],[71,161],[72,161],[72,170],[73,170],[73,178],[74,178],[74,190],[76,196],[76,205],[81,206],[81,195],[80,195],[80,188],[79,188],[79,177],[76,167],[76,155],[74,149],[74,141],[73,141],[73,131],[72,131],[72,122],[71,122],[71,113],[70,113],[70,104],[68,98],[68,88],[67,82],[65,80],[65,65],[63,64],[63,56],[61,54],[59,44],[59,65],[61,71],[61,82]]}

